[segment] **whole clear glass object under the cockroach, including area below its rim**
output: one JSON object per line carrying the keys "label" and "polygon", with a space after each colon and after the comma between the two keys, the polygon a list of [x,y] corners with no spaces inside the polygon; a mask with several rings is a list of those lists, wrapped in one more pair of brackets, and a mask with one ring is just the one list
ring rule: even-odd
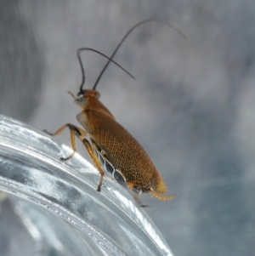
{"label": "whole clear glass object under the cockroach, including area below its rim", "polygon": [[128,191],[79,154],[0,116],[0,250],[9,255],[173,255]]}

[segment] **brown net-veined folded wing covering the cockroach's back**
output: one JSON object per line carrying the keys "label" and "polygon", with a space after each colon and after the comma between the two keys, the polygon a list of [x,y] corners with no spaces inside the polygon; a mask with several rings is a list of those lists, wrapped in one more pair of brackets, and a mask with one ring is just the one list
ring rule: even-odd
{"label": "brown net-veined folded wing covering the cockroach's back", "polygon": [[116,169],[121,170],[127,181],[146,186],[156,175],[156,168],[139,142],[118,122],[100,111],[86,111],[88,134],[105,151]]}

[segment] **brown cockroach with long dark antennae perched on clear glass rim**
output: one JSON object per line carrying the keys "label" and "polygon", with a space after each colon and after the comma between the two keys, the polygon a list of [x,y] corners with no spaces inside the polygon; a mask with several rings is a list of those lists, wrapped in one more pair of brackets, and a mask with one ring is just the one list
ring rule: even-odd
{"label": "brown cockroach with long dark antennae perched on clear glass rim", "polygon": [[[65,128],[70,129],[71,148],[73,152],[70,156],[65,158],[61,157],[60,159],[62,161],[70,159],[77,151],[75,136],[82,141],[88,154],[93,159],[96,168],[99,170],[100,179],[97,191],[101,190],[106,171],[111,174],[111,177],[116,179],[119,184],[133,191],[135,193],[134,198],[136,198],[137,201],[138,196],[141,193],[150,193],[150,195],[160,200],[171,200],[176,194],[171,196],[161,195],[167,192],[167,185],[156,170],[153,162],[150,160],[150,156],[144,151],[139,142],[134,139],[121,124],[116,122],[116,119],[111,112],[99,101],[99,92],[95,89],[110,62],[118,65],[112,59],[127,36],[136,27],[150,21],[159,21],[163,23],[161,20],[144,20],[139,22],[127,31],[127,34],[122,38],[122,41],[118,44],[110,58],[92,48],[77,49],[77,58],[82,70],[82,84],[77,94],[77,98],[74,94],[71,94],[70,92],[69,94],[71,94],[75,103],[82,108],[82,112],[77,115],[77,121],[80,122],[84,129],[78,128],[71,123],[66,123],[53,134],[48,133],[45,130],[45,132],[50,135],[57,135]],[[171,27],[173,28],[173,26]],[[173,29],[178,31],[175,28]],[[178,33],[183,36],[181,32],[178,31]],[[85,84],[85,71],[82,65],[81,53],[85,50],[92,50],[108,59],[92,89],[83,88]],[[120,67],[122,68],[122,66]],[[105,169],[105,171],[103,169]]]}

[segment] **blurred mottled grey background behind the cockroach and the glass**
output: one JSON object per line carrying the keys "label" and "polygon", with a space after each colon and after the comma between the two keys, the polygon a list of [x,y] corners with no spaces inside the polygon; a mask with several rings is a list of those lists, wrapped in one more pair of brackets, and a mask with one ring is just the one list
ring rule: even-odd
{"label": "blurred mottled grey background behind the cockroach and the glass", "polygon": [[[255,2],[77,0],[0,2],[0,113],[39,129],[78,124],[67,91],[76,49],[111,55],[100,100],[139,140],[171,202],[141,196],[175,255],[255,255]],[[87,87],[105,60],[84,53]],[[69,143],[69,134],[55,138]],[[85,150],[80,147],[80,153]]]}

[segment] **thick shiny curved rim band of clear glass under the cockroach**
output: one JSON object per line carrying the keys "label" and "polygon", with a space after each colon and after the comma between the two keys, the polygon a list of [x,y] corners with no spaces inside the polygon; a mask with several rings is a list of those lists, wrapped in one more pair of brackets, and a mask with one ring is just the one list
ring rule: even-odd
{"label": "thick shiny curved rim band of clear glass under the cockroach", "polygon": [[167,243],[133,197],[79,154],[25,123],[0,115],[0,190],[65,219],[105,254],[169,255]]}

